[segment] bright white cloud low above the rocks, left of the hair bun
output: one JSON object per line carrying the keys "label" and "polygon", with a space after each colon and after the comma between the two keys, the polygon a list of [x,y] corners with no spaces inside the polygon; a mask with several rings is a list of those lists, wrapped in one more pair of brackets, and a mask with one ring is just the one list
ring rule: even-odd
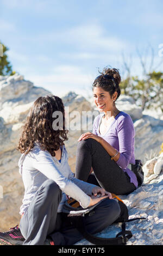
{"label": "bright white cloud low above the rocks, left of the hair bun", "polygon": [[29,74],[25,78],[32,81],[35,86],[43,87],[58,96],[62,96],[70,90],[88,96],[95,76],[85,74],[77,66],[61,65],[51,69],[50,74]]}

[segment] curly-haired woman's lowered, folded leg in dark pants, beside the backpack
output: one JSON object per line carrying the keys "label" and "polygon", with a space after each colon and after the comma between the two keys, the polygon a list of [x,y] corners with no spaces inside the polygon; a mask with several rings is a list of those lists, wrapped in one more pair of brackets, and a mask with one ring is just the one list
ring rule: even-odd
{"label": "curly-haired woman's lowered, folded leg in dark pants, beside the backpack", "polygon": [[[114,223],[120,216],[120,206],[116,200],[105,199],[94,209],[95,213],[85,216],[86,230],[90,234],[96,234]],[[84,239],[83,235],[73,226],[67,223],[70,222],[70,217],[62,218],[62,229],[59,232],[51,234],[51,238],[55,245],[73,245],[74,243]],[[64,227],[65,225],[65,227]]]}

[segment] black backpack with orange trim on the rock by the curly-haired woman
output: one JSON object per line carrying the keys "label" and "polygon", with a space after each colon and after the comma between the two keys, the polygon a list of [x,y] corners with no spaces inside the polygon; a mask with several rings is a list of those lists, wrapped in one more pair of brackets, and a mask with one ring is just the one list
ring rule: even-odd
{"label": "black backpack with orange trim on the rock by the curly-haired woman", "polygon": [[94,245],[126,245],[127,241],[133,236],[130,230],[126,230],[126,222],[145,218],[132,218],[129,220],[127,206],[115,194],[112,194],[112,197],[115,200],[117,200],[121,208],[121,214],[114,223],[122,222],[122,231],[118,233],[116,237],[113,238],[97,237],[95,235],[88,233],[86,230],[84,217],[86,214],[89,214],[89,216],[94,214],[95,211],[93,209],[96,207],[97,204],[91,206],[90,208],[83,209],[80,206],[79,202],[77,202],[73,198],[70,198],[66,201],[62,211],[65,212],[67,216],[71,218],[71,223],[80,231],[84,238],[87,241],[93,243]]}

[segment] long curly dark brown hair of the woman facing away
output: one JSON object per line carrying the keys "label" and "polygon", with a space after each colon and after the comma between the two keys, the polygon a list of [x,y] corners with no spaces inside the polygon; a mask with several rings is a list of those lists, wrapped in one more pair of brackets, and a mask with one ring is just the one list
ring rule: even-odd
{"label": "long curly dark brown hair of the woman facing away", "polygon": [[[61,129],[54,129],[54,113],[62,114]],[[47,150],[52,156],[64,141],[67,141],[67,130],[65,130],[65,108],[62,100],[54,95],[39,97],[30,108],[26,123],[18,142],[17,149],[21,153],[28,154],[38,142],[42,150]]]}

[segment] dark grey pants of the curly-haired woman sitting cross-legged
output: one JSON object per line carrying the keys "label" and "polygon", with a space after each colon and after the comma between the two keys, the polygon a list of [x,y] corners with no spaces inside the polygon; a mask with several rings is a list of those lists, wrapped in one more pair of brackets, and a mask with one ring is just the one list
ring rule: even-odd
{"label": "dark grey pants of the curly-haired woman sitting cross-legged", "polygon": [[[23,245],[43,245],[50,237],[55,245],[73,245],[83,239],[82,234],[70,223],[67,215],[57,213],[62,192],[53,180],[46,180],[37,190],[21,222]],[[85,216],[86,229],[98,233],[112,224],[120,215],[115,200],[105,199],[95,208],[95,214]]]}

